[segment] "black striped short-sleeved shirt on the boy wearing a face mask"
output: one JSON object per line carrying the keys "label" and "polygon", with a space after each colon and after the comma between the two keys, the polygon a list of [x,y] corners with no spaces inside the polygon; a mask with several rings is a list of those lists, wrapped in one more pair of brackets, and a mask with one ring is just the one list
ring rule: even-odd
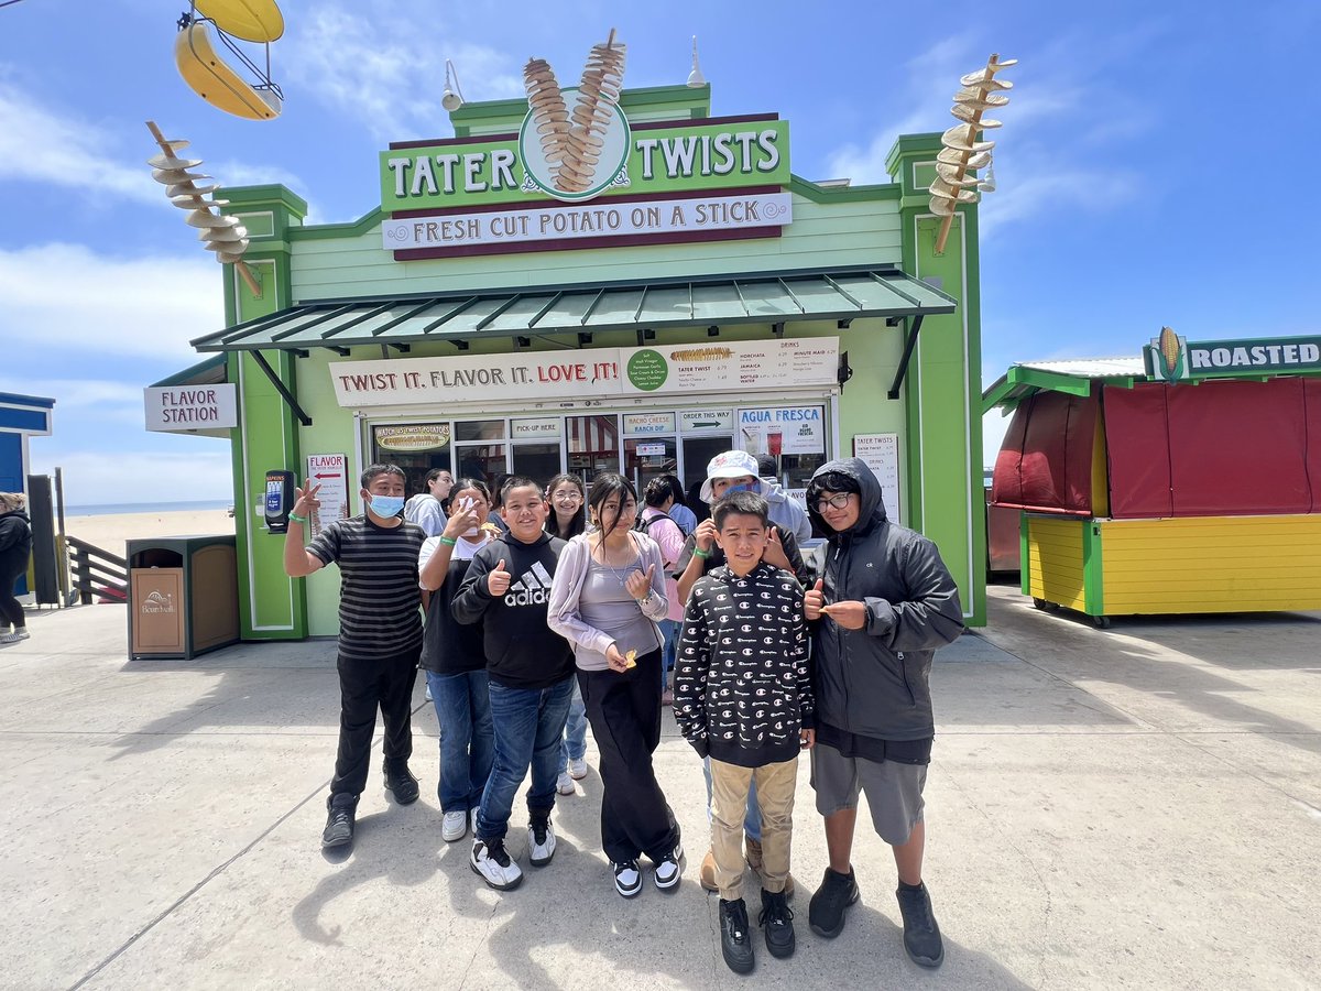
{"label": "black striped short-sleeved shirt on the boy wearing a face mask", "polygon": [[339,655],[378,661],[421,647],[417,554],[427,534],[413,523],[382,527],[366,514],[339,519],[308,544],[339,566]]}

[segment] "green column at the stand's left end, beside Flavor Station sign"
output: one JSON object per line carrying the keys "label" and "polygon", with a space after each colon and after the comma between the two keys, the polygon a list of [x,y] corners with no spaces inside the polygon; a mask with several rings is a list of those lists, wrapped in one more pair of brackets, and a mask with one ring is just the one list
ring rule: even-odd
{"label": "green column at the stand's left end, beside Flavor Station sign", "polygon": [[[227,326],[275,313],[293,304],[289,281],[289,231],[297,230],[308,205],[284,186],[226,189],[230,213],[248,230],[244,255],[260,295],[252,293],[234,266],[225,266]],[[297,395],[296,359],[263,351],[284,386]],[[301,470],[299,422],[266,373],[248,354],[229,355],[229,378],[238,385],[239,425],[231,432],[234,522],[239,548],[239,621],[243,640],[303,640],[308,636],[304,581],[284,573],[284,535],[267,531],[262,519],[266,472]],[[248,429],[260,424],[260,429]]]}

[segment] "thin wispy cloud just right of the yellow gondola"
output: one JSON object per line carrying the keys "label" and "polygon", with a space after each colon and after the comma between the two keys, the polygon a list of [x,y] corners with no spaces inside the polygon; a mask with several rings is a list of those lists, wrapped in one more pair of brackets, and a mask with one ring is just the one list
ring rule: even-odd
{"label": "thin wispy cloud just right of the yellow gondola", "polygon": [[410,18],[320,5],[306,11],[300,26],[280,42],[283,62],[292,81],[361,120],[379,140],[440,131],[448,120],[440,106],[446,55],[462,73],[460,89],[466,99],[523,95],[511,57],[468,42],[439,48],[435,26],[420,32]]}

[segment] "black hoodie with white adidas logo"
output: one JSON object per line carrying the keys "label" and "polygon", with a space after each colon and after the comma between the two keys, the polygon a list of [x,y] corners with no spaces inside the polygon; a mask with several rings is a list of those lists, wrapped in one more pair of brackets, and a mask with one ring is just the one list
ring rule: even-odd
{"label": "black hoodie with white adidas logo", "polygon": [[[573,649],[546,625],[551,579],[564,540],[544,531],[535,543],[505,534],[473,555],[468,573],[450,605],[458,622],[482,621],[486,673],[509,688],[550,688],[573,674]],[[486,576],[499,562],[510,573],[510,587],[491,596]]]}

